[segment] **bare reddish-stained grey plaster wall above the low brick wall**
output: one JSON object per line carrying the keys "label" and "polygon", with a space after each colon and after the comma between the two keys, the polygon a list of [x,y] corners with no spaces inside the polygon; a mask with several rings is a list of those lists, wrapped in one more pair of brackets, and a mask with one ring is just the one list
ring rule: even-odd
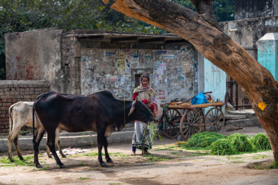
{"label": "bare reddish-stained grey plaster wall above the low brick wall", "polygon": [[7,33],[7,80],[47,80],[54,91],[62,91],[60,35],[54,28]]}

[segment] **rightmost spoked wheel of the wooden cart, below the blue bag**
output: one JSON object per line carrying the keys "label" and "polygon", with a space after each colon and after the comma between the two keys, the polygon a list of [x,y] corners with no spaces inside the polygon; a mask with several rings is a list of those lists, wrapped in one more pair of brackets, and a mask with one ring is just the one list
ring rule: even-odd
{"label": "rightmost spoked wheel of the wooden cart, below the blue bag", "polygon": [[220,108],[213,107],[206,113],[204,121],[206,132],[222,132],[224,123],[225,117]]}

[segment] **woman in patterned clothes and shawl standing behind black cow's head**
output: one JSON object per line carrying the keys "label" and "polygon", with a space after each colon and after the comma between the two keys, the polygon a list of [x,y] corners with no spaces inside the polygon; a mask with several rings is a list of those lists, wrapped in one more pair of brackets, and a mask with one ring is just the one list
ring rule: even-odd
{"label": "woman in patterned clothes and shawl standing behind black cow's head", "polygon": [[[152,111],[154,118],[157,114],[157,102],[154,90],[149,87],[149,76],[142,74],[140,76],[140,86],[133,91],[133,100],[140,100],[145,103]],[[143,154],[149,154],[148,150],[152,149],[152,132],[146,123],[135,121],[134,134],[132,139],[132,155],[136,155],[136,148],[143,150]]]}

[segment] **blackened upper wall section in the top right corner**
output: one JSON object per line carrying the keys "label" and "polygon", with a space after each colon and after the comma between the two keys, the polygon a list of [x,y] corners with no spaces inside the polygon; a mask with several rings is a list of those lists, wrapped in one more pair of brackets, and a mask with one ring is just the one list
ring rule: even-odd
{"label": "blackened upper wall section in the top right corner", "polygon": [[278,15],[277,7],[277,0],[235,0],[235,19]]}

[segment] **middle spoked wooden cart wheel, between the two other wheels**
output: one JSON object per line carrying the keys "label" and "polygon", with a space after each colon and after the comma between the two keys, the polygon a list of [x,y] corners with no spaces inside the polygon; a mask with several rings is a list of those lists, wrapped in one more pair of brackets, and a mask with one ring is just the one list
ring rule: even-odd
{"label": "middle spoked wooden cart wheel, between the two other wheels", "polygon": [[184,139],[189,139],[193,134],[201,132],[203,127],[202,117],[199,112],[189,109],[183,114],[179,129]]}

